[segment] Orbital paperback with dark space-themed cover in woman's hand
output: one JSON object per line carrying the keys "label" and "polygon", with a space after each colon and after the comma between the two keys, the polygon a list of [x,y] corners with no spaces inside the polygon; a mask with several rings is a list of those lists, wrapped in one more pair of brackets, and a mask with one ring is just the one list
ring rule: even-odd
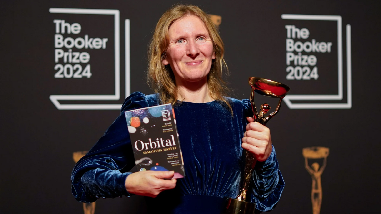
{"label": "Orbital paperback with dark space-themed cover in woman's hand", "polygon": [[139,171],[174,171],[185,176],[172,104],[125,112],[135,164]]}

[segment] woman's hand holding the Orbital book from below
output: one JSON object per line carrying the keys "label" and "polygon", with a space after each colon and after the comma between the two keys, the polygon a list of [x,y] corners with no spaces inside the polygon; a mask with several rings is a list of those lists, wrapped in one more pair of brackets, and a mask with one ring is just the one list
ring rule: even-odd
{"label": "woman's hand holding the Orbital book from below", "polygon": [[134,172],[126,178],[126,190],[135,195],[156,198],[163,190],[176,187],[176,179],[164,180],[164,178],[171,178],[173,175],[174,171]]}

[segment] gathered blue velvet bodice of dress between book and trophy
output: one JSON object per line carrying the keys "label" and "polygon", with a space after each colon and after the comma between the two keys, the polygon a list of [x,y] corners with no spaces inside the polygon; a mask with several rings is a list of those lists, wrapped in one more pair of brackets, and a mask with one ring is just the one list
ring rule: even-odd
{"label": "gathered blue velvet bodice of dress between book and trophy", "polygon": [[237,196],[245,127],[243,102],[231,103],[233,109],[241,105],[233,116],[219,101],[174,107],[186,172],[178,180],[183,195]]}

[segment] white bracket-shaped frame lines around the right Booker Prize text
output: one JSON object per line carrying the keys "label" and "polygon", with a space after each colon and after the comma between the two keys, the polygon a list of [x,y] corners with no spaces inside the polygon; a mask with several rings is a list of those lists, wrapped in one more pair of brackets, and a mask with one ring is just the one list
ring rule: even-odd
{"label": "white bracket-shaped frame lines around the right Booker Prize text", "polygon": [[352,53],[351,25],[347,24],[347,103],[292,103],[291,100],[343,100],[343,39],[341,16],[282,14],[282,19],[337,21],[338,40],[338,94],[335,95],[294,95],[290,94],[283,101],[290,109],[351,109],[352,108]]}

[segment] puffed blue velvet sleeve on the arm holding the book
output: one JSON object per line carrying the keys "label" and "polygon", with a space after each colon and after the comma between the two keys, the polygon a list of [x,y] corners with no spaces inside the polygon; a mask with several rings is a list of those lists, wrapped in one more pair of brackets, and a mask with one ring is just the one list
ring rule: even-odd
{"label": "puffed blue velvet sleeve on the arm holding the book", "polygon": [[135,160],[124,112],[149,107],[146,96],[134,92],[126,98],[121,114],[106,133],[75,165],[72,175],[72,193],[77,201],[90,203],[99,197],[115,198],[127,195],[125,180],[131,174],[122,173],[134,167]]}

